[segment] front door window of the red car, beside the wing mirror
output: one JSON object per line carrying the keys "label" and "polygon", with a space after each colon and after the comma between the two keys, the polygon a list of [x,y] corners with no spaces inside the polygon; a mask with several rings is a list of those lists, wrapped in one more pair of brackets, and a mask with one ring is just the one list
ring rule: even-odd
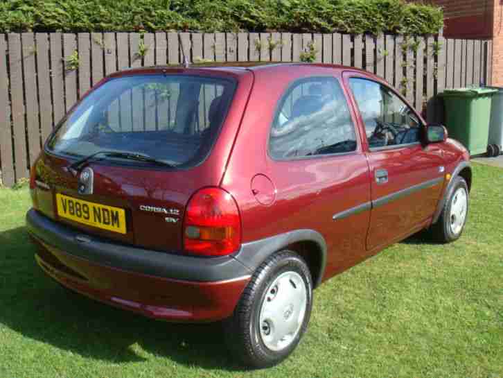
{"label": "front door window of the red car, beside the wing mirror", "polygon": [[420,140],[421,122],[391,89],[362,78],[350,78],[349,85],[358,103],[370,148]]}

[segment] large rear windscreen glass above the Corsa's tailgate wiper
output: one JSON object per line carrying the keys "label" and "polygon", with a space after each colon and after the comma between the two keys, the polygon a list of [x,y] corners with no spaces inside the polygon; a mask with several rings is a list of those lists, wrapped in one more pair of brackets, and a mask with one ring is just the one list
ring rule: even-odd
{"label": "large rear windscreen glass above the Corsa's tailgate wiper", "polygon": [[194,166],[211,150],[235,87],[232,80],[201,76],[113,78],[63,119],[46,148],[76,158],[112,151]]}

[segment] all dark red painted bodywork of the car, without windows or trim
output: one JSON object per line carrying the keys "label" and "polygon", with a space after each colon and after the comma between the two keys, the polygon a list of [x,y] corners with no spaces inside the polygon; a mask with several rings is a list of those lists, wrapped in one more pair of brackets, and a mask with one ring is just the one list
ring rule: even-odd
{"label": "all dark red painted bodywork of the car, without windows or trim", "polygon": [[[69,161],[42,153],[37,162],[37,176],[53,189],[33,189],[35,208],[55,221],[68,222],[89,234],[141,248],[183,253],[182,222],[167,224],[162,217],[139,211],[139,205],[176,208],[183,214],[188,199],[197,189],[220,186],[238,203],[242,243],[298,229],[321,233],[328,247],[323,274],[326,280],[427,227],[443,195],[445,180],[336,223],[332,220],[333,214],[414,184],[443,178],[446,173],[452,173],[459,162],[468,160],[468,153],[450,140],[370,153],[347,79],[362,76],[385,82],[364,71],[326,65],[270,65],[257,69],[159,67],[112,76],[155,74],[161,70],[167,74],[226,76],[237,80],[236,95],[209,157],[193,169],[170,172],[91,163],[95,172],[94,194],[80,196],[76,190],[77,179],[65,171]],[[308,76],[333,76],[342,84],[357,127],[357,151],[341,156],[274,161],[267,154],[267,138],[276,105],[293,80]],[[105,80],[107,78],[101,83]],[[416,115],[421,119],[420,114]],[[439,166],[445,166],[445,173],[439,173]],[[389,172],[389,185],[375,184],[374,171],[380,168]],[[260,176],[257,178],[257,175]],[[261,190],[267,193],[260,193]],[[59,219],[55,215],[55,192],[125,208],[132,219],[127,234],[100,231]],[[249,280],[245,277],[202,284],[168,277],[160,279],[98,266],[54,248],[42,248],[45,252],[39,252],[37,261],[55,280],[97,300],[155,318],[225,318],[232,313]],[[63,268],[55,266],[57,261],[51,264],[49,260],[53,257],[86,280],[79,281],[65,274]]]}

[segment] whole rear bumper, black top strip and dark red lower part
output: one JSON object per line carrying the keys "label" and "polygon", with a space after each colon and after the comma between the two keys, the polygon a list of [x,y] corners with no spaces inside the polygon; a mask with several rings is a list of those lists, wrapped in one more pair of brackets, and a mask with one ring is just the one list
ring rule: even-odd
{"label": "whole rear bumper, black top strip and dark red lower part", "polygon": [[215,321],[231,316],[250,279],[234,257],[200,258],[89,237],[31,209],[35,259],[73,291],[152,318]]}

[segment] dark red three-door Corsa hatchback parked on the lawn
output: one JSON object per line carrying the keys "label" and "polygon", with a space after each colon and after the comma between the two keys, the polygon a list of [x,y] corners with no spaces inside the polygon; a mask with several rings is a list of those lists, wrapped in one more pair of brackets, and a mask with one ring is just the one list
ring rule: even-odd
{"label": "dark red three-door Corsa hatchback parked on the lawn", "polygon": [[132,69],[48,137],[26,223],[60,284],[156,319],[223,320],[243,363],[272,366],[321,282],[425,228],[460,237],[468,159],[358,69]]}

